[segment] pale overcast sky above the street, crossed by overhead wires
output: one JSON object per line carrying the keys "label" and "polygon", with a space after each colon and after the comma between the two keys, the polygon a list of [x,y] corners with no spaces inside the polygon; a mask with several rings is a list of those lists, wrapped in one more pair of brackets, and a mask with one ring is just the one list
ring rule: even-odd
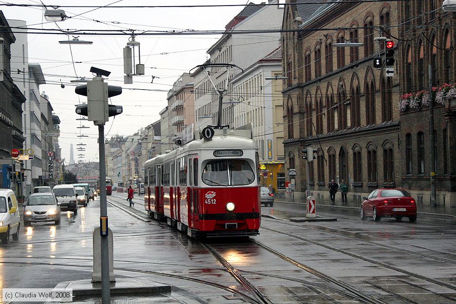
{"label": "pale overcast sky above the street, crossed by overhead wires", "polygon": [[[253,1],[260,3],[260,1]],[[17,4],[40,4],[40,1],[16,0]],[[121,1],[61,1],[43,0],[45,5],[97,5],[107,6],[124,5],[213,5],[213,4],[247,4],[245,0],[121,0]],[[144,30],[223,30],[225,25],[238,14],[242,7],[215,7],[215,8],[64,8],[68,16],[75,16],[61,22],[47,22],[43,15],[43,8],[22,8],[1,6],[7,19],[19,19],[27,22],[29,28],[57,28],[62,29],[135,29]],[[51,9],[51,8],[50,8]],[[94,11],[91,11],[94,10]],[[96,22],[102,21],[102,22]],[[145,127],[160,119],[159,112],[167,105],[166,91],[183,72],[207,59],[206,51],[214,44],[220,35],[192,35],[192,36],[136,36],[141,44],[141,63],[145,65],[145,75],[134,77],[132,85],[123,83],[123,48],[128,42],[125,36],[84,36],[80,40],[93,41],[92,45],[72,45],[72,64],[70,48],[58,42],[68,40],[66,35],[56,34],[28,34],[29,63],[39,63],[45,74],[46,85],[40,86],[49,96],[54,112],[61,120],[60,147],[62,157],[69,161],[70,143],[74,144],[74,159],[78,161],[76,144],[86,143],[85,161],[98,161],[98,128],[92,122],[83,122],[90,129],[77,129],[80,122],[74,112],[75,104],[86,102],[86,97],[74,93],[74,84],[69,81],[78,77],[92,78],[89,72],[91,66],[109,70],[111,74],[107,80],[110,85],[123,87],[120,96],[111,98],[113,104],[122,105],[124,112],[105,125],[106,138],[111,135],[132,135],[141,127]],[[69,39],[72,39],[70,36]],[[246,43],[255,42],[254,35],[245,36]],[[16,56],[16,54],[12,54]],[[151,84],[152,75],[158,77]],[[61,88],[60,83],[65,85]],[[153,92],[136,89],[165,90]],[[89,137],[77,137],[82,130]]]}

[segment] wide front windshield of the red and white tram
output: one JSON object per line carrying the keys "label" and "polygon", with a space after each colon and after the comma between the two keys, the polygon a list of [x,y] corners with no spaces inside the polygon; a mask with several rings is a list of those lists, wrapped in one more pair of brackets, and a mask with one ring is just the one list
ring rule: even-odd
{"label": "wide front windshield of the red and white tram", "polygon": [[240,186],[251,184],[255,173],[244,160],[215,160],[206,164],[202,179],[210,186]]}

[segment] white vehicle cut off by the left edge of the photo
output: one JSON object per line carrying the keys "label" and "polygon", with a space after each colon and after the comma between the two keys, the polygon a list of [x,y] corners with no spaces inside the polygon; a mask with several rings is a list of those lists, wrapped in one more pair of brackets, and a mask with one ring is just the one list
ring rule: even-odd
{"label": "white vehicle cut off by the left edge of the photo", "polygon": [[8,244],[10,236],[19,240],[19,210],[16,195],[11,189],[0,189],[0,239]]}

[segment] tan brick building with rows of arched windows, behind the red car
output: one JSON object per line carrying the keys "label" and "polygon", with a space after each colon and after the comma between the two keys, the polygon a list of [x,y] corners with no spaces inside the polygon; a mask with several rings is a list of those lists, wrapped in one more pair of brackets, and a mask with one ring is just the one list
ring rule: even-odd
{"label": "tan brick building with rows of arched windows, behind the red car", "polygon": [[[329,200],[331,179],[349,182],[348,200],[357,202],[375,188],[401,185],[399,78],[372,68],[383,50],[374,38],[397,37],[398,28],[389,25],[398,24],[398,15],[397,2],[286,6],[285,168],[297,171],[296,197],[305,196],[309,168],[318,200]],[[346,41],[364,46],[332,46]],[[301,158],[306,146],[318,149],[312,163]]]}

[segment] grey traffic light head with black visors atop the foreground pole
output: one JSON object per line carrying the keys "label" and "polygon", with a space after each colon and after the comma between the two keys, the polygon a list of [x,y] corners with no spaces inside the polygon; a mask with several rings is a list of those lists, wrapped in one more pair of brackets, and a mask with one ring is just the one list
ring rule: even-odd
{"label": "grey traffic light head with black visors atop the foreground pole", "polygon": [[97,77],[87,82],[87,85],[77,86],[74,92],[79,95],[87,96],[87,104],[81,104],[76,107],[76,113],[87,116],[89,121],[95,125],[104,125],[109,117],[119,115],[123,112],[120,105],[108,104],[108,98],[122,94],[122,87],[108,86],[102,76],[109,75],[109,71],[90,68],[95,72]]}

